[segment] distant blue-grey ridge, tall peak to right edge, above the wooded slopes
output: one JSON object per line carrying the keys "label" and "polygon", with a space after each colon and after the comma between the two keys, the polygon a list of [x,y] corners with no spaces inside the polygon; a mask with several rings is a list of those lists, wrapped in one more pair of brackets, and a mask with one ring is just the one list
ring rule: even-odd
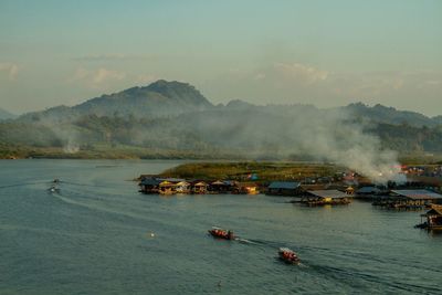
{"label": "distant blue-grey ridge, tall peak to right edge, above the wooded slopes", "polygon": [[[145,117],[170,117],[186,113],[202,112],[208,109],[253,109],[274,114],[290,114],[301,110],[318,112],[350,112],[355,118],[366,118],[373,123],[386,123],[393,125],[408,124],[415,127],[434,127],[442,125],[442,115],[428,117],[417,112],[398,110],[393,107],[380,104],[368,106],[362,103],[354,103],[343,107],[318,109],[313,105],[254,105],[241,99],[233,99],[227,105],[214,106],[198,89],[187,83],[167,82],[159,80],[144,87],[131,87],[125,91],[105,94],[91,98],[82,104],[69,107],[56,106],[42,112],[32,112],[19,117],[21,120],[55,119],[72,122],[84,115],[97,116],[135,116]],[[1,110],[0,110],[1,116]],[[0,117],[1,118],[1,117]]]}

